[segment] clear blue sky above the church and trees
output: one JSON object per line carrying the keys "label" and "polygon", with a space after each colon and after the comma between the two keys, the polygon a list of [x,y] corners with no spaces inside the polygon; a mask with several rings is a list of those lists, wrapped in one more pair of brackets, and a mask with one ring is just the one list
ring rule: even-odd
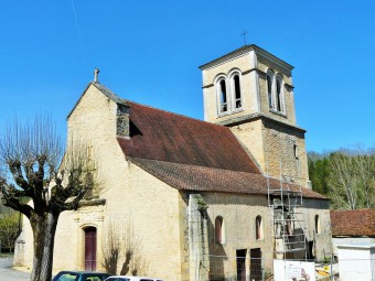
{"label": "clear blue sky above the church and trees", "polygon": [[14,0],[0,26],[0,123],[50,112],[65,133],[96,66],[122,98],[202,119],[197,66],[247,30],[296,67],[308,150],[375,145],[375,1]]}

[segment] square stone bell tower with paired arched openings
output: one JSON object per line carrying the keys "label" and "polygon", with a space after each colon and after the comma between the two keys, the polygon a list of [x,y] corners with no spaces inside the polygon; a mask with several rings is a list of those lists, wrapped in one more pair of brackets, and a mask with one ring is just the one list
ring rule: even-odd
{"label": "square stone bell tower with paired arched openings", "polygon": [[229,127],[265,174],[308,187],[293,66],[257,45],[245,45],[200,68],[205,121]]}

